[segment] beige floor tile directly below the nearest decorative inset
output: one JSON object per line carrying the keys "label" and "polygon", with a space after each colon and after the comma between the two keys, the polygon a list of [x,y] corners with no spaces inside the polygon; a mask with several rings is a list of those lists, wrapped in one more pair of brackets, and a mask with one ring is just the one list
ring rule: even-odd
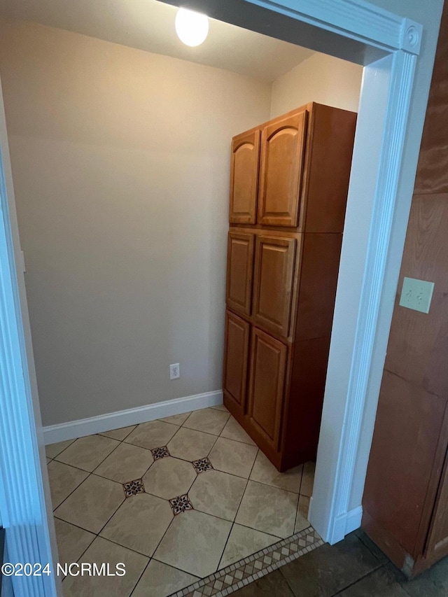
{"label": "beige floor tile directly below the nearest decorative inset", "polygon": [[154,557],[188,574],[216,572],[232,523],[189,510],[174,517]]}

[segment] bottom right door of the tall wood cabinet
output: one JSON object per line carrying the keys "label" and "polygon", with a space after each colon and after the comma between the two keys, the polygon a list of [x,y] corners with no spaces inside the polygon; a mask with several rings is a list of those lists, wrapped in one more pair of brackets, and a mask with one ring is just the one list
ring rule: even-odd
{"label": "bottom right door of the tall wood cabinet", "polygon": [[248,416],[274,450],[279,449],[287,353],[284,344],[253,328]]}

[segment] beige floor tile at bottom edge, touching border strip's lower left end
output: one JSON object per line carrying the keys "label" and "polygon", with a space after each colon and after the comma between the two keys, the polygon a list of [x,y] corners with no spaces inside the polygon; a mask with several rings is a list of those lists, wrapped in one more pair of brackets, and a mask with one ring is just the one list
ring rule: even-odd
{"label": "beige floor tile at bottom edge, touching border strip's lower left end", "polygon": [[139,580],[139,584],[135,587],[132,597],[167,597],[197,580],[199,580],[197,576],[187,574],[157,560],[151,560]]}

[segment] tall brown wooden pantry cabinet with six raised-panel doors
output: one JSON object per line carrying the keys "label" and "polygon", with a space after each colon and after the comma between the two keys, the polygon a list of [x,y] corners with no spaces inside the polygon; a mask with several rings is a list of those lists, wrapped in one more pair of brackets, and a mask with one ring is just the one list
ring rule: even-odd
{"label": "tall brown wooden pantry cabinet with six raised-panel doors", "polygon": [[356,113],[232,139],[224,404],[279,470],[316,456]]}

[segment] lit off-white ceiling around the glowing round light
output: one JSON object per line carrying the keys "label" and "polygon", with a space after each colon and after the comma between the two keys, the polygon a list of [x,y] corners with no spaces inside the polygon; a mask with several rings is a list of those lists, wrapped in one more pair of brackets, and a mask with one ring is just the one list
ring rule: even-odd
{"label": "lit off-white ceiling around the glowing round light", "polygon": [[313,53],[213,19],[207,40],[188,48],[174,31],[176,10],[158,0],[0,0],[0,16],[6,18],[76,31],[267,82]]}

